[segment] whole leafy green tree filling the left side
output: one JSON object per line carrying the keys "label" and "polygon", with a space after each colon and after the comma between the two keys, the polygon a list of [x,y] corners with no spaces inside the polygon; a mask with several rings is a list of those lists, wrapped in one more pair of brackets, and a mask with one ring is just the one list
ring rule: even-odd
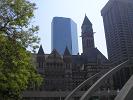
{"label": "whole leafy green tree filling the left side", "polygon": [[35,4],[26,0],[0,0],[0,98],[19,100],[28,86],[42,78],[31,61],[38,47],[38,27],[31,25]]}

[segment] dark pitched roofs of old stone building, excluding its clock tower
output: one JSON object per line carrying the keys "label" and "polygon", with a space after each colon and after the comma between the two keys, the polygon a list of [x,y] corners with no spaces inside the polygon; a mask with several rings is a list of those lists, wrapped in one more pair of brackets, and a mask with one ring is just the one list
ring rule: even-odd
{"label": "dark pitched roofs of old stone building, excluding its clock tower", "polygon": [[[42,54],[42,47],[40,46],[39,54]],[[43,53],[44,54],[44,53]],[[91,48],[86,53],[82,53],[81,55],[71,55],[68,48],[65,49],[64,55],[70,56],[73,64],[89,64],[89,63],[101,63],[101,64],[109,64],[109,60],[97,49]],[[50,54],[47,54],[48,59],[53,59],[56,61],[63,61],[62,56],[57,52],[56,49]]]}

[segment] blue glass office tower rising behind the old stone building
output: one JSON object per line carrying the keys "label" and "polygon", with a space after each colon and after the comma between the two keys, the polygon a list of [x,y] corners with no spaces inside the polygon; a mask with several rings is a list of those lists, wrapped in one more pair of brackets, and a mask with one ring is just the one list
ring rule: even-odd
{"label": "blue glass office tower rising behind the old stone building", "polygon": [[56,49],[61,55],[67,47],[71,55],[78,53],[77,25],[70,18],[54,17],[52,20],[52,50]]}

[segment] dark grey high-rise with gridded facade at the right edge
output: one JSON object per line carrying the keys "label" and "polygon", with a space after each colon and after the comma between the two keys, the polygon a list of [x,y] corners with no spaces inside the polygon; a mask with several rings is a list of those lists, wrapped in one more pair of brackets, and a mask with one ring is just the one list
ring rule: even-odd
{"label": "dark grey high-rise with gridded facade at the right edge", "polygon": [[[118,65],[133,57],[133,0],[109,0],[101,15],[109,60],[112,65]],[[117,72],[114,87],[122,88],[132,72],[132,68]]]}

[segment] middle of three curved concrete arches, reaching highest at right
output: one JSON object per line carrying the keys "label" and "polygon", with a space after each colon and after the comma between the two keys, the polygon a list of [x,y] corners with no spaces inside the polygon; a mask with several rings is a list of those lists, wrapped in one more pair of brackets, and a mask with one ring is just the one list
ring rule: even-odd
{"label": "middle of three curved concrete arches, reaching highest at right", "polygon": [[109,70],[106,74],[104,74],[99,80],[97,80],[80,98],[80,100],[88,100],[92,94],[103,84],[104,80],[107,80],[111,77],[114,73],[119,71],[121,68],[127,66],[129,61],[125,61],[118,66],[114,67],[113,69]]}

